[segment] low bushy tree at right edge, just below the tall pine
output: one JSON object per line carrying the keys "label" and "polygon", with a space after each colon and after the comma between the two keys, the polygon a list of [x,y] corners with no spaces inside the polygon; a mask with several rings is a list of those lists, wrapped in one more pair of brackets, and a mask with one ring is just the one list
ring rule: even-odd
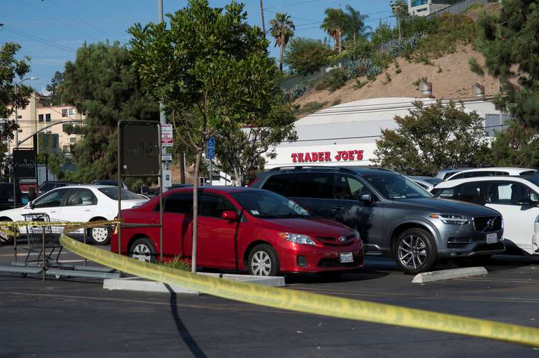
{"label": "low bushy tree at right edge, just below the tall pine", "polygon": [[535,168],[539,164],[538,153],[536,131],[522,121],[512,120],[508,129],[496,133],[491,161],[499,166]]}

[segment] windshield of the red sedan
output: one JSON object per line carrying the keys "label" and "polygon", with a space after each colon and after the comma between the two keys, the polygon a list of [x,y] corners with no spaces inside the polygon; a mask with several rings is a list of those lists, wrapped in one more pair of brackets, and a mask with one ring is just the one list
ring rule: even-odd
{"label": "windshield of the red sedan", "polygon": [[232,197],[251,215],[263,219],[308,218],[311,214],[301,206],[270,191],[242,191]]}

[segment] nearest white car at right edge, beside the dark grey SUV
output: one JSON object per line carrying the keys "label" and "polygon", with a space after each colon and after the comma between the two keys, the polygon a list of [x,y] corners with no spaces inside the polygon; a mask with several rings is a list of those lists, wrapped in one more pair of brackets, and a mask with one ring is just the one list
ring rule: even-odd
{"label": "nearest white car at right edge, beside the dark grey SUV", "polygon": [[539,175],[442,181],[431,193],[440,199],[472,202],[499,211],[505,224],[506,244],[514,243],[529,254],[539,254]]}

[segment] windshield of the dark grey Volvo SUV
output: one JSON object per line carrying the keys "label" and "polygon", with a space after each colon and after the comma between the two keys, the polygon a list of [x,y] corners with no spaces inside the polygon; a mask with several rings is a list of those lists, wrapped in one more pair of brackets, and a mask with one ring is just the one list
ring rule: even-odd
{"label": "windshield of the dark grey Volvo SUV", "polygon": [[400,174],[393,172],[373,172],[372,174],[362,174],[362,176],[380,194],[392,200],[432,197],[432,194],[428,193],[428,191]]}

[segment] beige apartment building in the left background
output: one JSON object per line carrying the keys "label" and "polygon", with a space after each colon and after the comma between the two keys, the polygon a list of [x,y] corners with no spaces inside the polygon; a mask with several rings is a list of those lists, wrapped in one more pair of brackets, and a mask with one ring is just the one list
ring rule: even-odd
{"label": "beige apartment building in the left background", "polygon": [[[10,117],[10,120],[14,119],[15,113]],[[66,133],[63,130],[64,124],[72,121],[74,125],[81,125],[86,120],[86,115],[79,113],[75,106],[48,106],[47,97],[34,92],[31,95],[29,105],[23,110],[17,111],[17,120],[19,123],[19,147],[33,147],[33,133],[40,131],[40,133],[58,134],[58,144],[55,145],[55,151],[68,153],[70,146],[77,143],[81,136]],[[15,147],[15,140],[10,141],[9,152],[13,152],[13,147]]]}

